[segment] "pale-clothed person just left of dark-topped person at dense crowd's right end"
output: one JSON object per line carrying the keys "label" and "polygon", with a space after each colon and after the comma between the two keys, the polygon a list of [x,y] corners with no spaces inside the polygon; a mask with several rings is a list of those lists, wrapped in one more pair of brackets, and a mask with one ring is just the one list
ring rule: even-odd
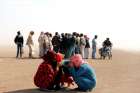
{"label": "pale-clothed person just left of dark-topped person at dense crowd's right end", "polygon": [[81,34],[80,35],[80,52],[81,52],[82,58],[84,58],[85,45],[86,45],[86,41],[85,41],[84,35]]}

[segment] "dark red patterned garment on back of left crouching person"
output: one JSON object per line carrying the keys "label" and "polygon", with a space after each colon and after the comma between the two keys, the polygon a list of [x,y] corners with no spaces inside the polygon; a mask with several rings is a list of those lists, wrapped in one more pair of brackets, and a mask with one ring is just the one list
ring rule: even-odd
{"label": "dark red patterned garment on back of left crouching person", "polygon": [[34,77],[34,84],[41,89],[49,89],[54,84],[56,72],[47,62],[41,63]]}

